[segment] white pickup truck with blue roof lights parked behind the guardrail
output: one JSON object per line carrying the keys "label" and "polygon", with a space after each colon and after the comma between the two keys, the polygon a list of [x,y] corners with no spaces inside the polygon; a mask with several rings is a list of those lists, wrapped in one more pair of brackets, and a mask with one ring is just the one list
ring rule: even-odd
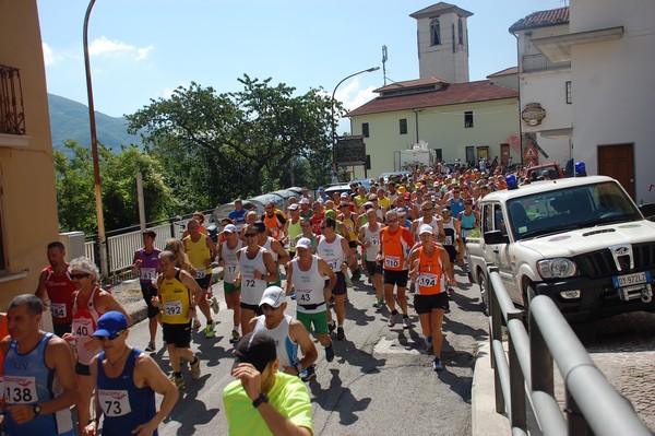
{"label": "white pickup truck with blue roof lights parked behind the guardrail", "polygon": [[545,294],[570,321],[655,311],[655,223],[609,177],[492,192],[480,202],[480,226],[466,250],[485,303],[486,264],[492,263],[526,310]]}

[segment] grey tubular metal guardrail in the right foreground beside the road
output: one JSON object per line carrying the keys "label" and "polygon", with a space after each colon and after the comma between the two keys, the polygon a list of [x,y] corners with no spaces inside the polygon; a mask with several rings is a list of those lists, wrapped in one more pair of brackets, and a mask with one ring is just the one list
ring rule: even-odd
{"label": "grey tubular metal guardrail in the right foreground beside the road", "polygon": [[[498,267],[489,276],[489,327],[496,412],[510,417],[512,435],[527,435],[526,389],[545,435],[651,435],[630,402],[607,381],[552,299],[529,303],[529,335],[523,311],[510,299]],[[509,360],[502,343],[508,328]],[[555,398],[553,360],[565,386],[565,413]]]}

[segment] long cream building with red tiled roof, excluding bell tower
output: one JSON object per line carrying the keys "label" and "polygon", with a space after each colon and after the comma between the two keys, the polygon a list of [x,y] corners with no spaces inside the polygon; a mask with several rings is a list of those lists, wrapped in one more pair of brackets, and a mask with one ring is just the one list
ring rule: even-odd
{"label": "long cream building with red tiled roof, excluding bell tower", "polygon": [[[350,129],[364,135],[369,175],[400,170],[402,150],[427,143],[453,163],[481,157],[519,163],[519,91],[491,80],[446,83],[436,78],[376,90],[379,96],[350,111]],[[355,167],[354,178],[364,177]]]}

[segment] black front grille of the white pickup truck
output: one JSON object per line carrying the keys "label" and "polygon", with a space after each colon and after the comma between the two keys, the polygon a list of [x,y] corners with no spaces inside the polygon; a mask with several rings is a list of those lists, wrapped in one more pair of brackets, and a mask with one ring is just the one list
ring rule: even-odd
{"label": "black front grille of the white pickup truck", "polygon": [[581,275],[587,275],[591,279],[655,268],[654,243],[635,244],[632,246],[632,254],[634,256],[634,269],[632,270],[630,269],[630,256],[619,256],[617,258],[621,266],[619,271],[608,248],[575,256],[573,260],[577,264]]}

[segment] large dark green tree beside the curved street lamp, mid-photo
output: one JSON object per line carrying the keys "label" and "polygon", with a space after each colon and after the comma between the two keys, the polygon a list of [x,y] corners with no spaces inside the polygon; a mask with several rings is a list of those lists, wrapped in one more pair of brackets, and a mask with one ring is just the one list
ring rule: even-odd
{"label": "large dark green tree beside the curved street lamp, mid-photo", "polygon": [[[178,198],[205,209],[295,185],[330,180],[332,101],[322,90],[297,95],[284,83],[248,75],[217,94],[191,83],[128,116],[129,131],[166,168]],[[341,106],[338,107],[341,110]],[[295,172],[297,169],[297,172]]]}

